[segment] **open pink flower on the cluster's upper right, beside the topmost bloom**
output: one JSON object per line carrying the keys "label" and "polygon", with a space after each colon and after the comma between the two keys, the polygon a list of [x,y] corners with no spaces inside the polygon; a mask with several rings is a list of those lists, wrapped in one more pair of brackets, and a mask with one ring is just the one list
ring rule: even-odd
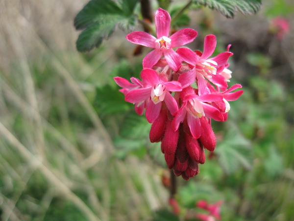
{"label": "open pink flower on the cluster's upper right, beside the topmost bloom", "polygon": [[229,56],[233,55],[233,53],[223,52],[208,59],[208,57],[213,54],[216,45],[216,36],[211,34],[205,37],[203,53],[202,55],[200,53],[200,56],[196,55],[195,52],[188,48],[179,48],[177,50],[177,53],[183,58],[183,60],[193,66],[191,71],[181,75],[178,79],[183,88],[188,86],[185,81],[183,81],[183,79],[187,79],[185,75],[188,75],[190,79],[197,79],[199,95],[210,93],[205,79],[221,88],[226,88],[228,86],[225,78],[217,72],[217,68],[226,65]]}

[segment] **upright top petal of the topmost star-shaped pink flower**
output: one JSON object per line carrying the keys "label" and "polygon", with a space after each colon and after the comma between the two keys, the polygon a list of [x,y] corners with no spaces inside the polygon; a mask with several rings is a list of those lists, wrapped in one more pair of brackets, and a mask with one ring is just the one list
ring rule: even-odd
{"label": "upright top petal of the topmost star-shaped pink flower", "polygon": [[169,12],[158,8],[155,13],[155,27],[157,38],[162,36],[169,37],[171,27],[171,16]]}

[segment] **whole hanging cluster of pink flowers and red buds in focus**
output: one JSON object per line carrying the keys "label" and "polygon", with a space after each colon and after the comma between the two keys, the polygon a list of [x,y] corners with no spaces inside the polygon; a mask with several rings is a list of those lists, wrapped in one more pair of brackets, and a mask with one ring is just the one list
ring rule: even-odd
{"label": "whole hanging cluster of pink flowers and red buds in focus", "polygon": [[228,58],[223,52],[213,54],[217,40],[208,35],[203,53],[180,47],[192,42],[196,30],[184,28],[170,36],[171,16],[159,8],[155,14],[157,38],[144,31],[134,31],[126,36],[132,43],[153,48],[143,59],[141,80],[131,82],[115,77],[122,87],[125,100],[135,104],[139,115],[145,111],[152,123],[151,142],[161,141],[167,165],[176,176],[185,180],[195,176],[198,164],[204,164],[204,148],[214,151],[216,137],[211,118],[225,121],[230,110],[228,101],[234,101],[243,93],[240,84],[228,88],[231,78]]}

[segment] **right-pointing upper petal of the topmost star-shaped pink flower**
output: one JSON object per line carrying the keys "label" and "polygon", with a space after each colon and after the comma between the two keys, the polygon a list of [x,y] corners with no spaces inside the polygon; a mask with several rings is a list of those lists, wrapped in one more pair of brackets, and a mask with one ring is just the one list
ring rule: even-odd
{"label": "right-pointing upper petal of the topmost star-shaped pink flower", "polygon": [[174,34],[172,34],[172,36],[170,37],[172,39],[171,47],[175,48],[175,47],[186,45],[194,41],[196,36],[197,36],[197,31],[192,28],[181,29],[175,32]]}

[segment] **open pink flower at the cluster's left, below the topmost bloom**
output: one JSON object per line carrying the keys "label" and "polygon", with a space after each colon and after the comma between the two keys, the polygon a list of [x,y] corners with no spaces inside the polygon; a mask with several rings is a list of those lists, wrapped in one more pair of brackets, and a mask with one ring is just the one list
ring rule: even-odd
{"label": "open pink flower at the cluster's left, below the topmost bloom", "polygon": [[141,78],[144,87],[130,90],[125,95],[125,100],[130,103],[136,103],[138,104],[137,106],[146,103],[146,118],[149,123],[153,123],[159,116],[163,101],[172,114],[178,110],[177,103],[170,94],[170,91],[181,91],[182,86],[180,83],[176,81],[168,82],[165,73],[158,75],[156,71],[149,68],[141,72]]}

